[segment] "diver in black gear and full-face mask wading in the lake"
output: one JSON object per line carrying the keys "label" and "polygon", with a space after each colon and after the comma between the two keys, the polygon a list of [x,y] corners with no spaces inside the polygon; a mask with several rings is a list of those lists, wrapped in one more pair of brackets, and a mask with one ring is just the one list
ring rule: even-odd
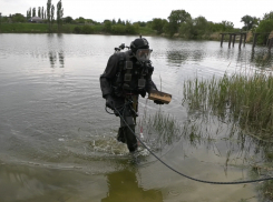
{"label": "diver in black gear and full-face mask wading in the lake", "polygon": [[[149,49],[148,41],[140,37],[135,39],[130,47],[126,47],[127,51],[120,52],[124,48],[124,43],[115,48],[116,51],[108,59],[99,80],[106,107],[114,110],[116,117],[123,117],[117,140],[127,143],[128,150],[134,152],[137,150],[137,139],[134,133],[138,115],[138,95],[145,98],[146,93],[158,90],[152,80],[154,67],[149,58],[153,50]],[[163,104],[159,100],[154,102]]]}

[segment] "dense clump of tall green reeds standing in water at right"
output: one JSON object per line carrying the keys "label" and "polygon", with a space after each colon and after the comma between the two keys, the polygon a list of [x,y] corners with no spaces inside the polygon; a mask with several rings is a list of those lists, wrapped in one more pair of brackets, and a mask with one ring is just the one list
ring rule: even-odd
{"label": "dense clump of tall green reeds standing in water at right", "polygon": [[234,73],[184,82],[184,103],[263,138],[273,131],[273,75],[267,72]]}

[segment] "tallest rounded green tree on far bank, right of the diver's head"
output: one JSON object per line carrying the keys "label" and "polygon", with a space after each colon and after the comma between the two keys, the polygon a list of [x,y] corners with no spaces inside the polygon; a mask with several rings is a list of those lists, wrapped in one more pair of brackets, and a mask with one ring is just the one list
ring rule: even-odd
{"label": "tallest rounded green tree on far bank, right of the diver's head", "polygon": [[173,10],[168,17],[170,36],[177,33],[181,23],[185,22],[188,19],[192,19],[192,17],[185,10]]}

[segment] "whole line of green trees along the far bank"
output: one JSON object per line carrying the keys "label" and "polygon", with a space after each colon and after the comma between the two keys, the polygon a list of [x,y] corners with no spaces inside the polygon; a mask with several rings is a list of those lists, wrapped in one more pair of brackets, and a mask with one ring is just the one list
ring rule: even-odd
{"label": "whole line of green trees along the far bank", "polygon": [[[142,28],[142,30],[152,30],[154,34],[179,36],[186,39],[209,39],[213,33],[218,32],[256,31],[267,33],[273,30],[273,11],[265,13],[261,19],[247,14],[242,17],[241,22],[244,23],[242,28],[234,28],[234,23],[226,20],[212,22],[202,16],[193,18],[186,10],[173,10],[166,19],[154,18],[147,22],[130,22],[120,19],[107,19],[104,22],[97,22],[92,19],[85,19],[84,17],[76,19],[71,17],[64,18],[61,0],[57,3],[56,13],[57,18],[55,19],[55,6],[51,0],[48,0],[46,8],[38,7],[38,12],[36,12],[36,8],[30,8],[27,11],[27,20],[38,16],[49,24],[49,30],[52,29],[52,24],[56,22],[58,30],[61,29],[62,23],[79,24],[74,28],[75,33],[92,33],[94,28],[91,26],[100,26],[103,27],[101,31],[110,34],[137,34],[139,33],[139,28]],[[20,13],[10,16],[10,18],[13,22],[26,21],[26,18]],[[260,36],[260,43],[262,42],[262,38],[263,34]]]}

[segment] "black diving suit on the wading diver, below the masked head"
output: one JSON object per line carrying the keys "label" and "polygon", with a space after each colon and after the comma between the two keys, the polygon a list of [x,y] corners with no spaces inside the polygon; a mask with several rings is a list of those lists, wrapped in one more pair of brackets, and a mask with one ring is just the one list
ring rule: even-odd
{"label": "black diving suit on the wading diver, below the masked head", "polygon": [[[133,69],[126,69],[126,62],[131,62]],[[157,90],[152,80],[154,68],[150,61],[142,63],[133,57],[131,51],[114,53],[100,75],[103,98],[110,95],[114,100],[114,111],[118,110],[129,128],[120,118],[118,141],[127,143],[129,151],[137,149],[137,141],[131,131],[135,131],[137,117],[138,95],[143,98],[146,92]],[[127,78],[127,79],[126,79]],[[116,115],[119,115],[115,112]]]}

